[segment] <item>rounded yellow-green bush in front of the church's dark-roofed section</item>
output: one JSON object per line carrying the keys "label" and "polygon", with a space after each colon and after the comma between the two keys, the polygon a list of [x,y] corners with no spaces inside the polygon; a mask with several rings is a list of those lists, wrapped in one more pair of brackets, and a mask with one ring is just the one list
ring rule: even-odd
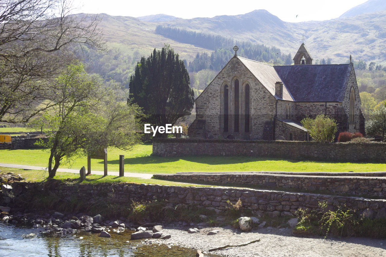
{"label": "rounded yellow-green bush in front of the church's dark-roofed section", "polygon": [[336,120],[323,114],[319,114],[315,119],[306,117],[301,120],[301,124],[317,142],[333,142],[338,130]]}

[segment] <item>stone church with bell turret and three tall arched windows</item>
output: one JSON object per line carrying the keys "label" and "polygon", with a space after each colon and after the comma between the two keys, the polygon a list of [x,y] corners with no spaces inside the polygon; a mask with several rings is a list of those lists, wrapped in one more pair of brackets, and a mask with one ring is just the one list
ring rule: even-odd
{"label": "stone church with bell turret and three tall arched windows", "polygon": [[300,121],[318,114],[337,120],[338,133],[364,134],[353,64],[313,65],[304,43],[293,60],[272,66],[235,54],[196,98],[189,136],[309,140]]}

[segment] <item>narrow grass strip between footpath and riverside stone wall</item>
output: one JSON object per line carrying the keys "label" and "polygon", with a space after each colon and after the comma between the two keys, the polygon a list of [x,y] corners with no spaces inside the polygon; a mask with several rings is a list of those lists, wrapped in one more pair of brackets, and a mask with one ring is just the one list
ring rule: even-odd
{"label": "narrow grass strip between footpath and riverside stone wall", "polygon": [[[24,170],[24,169],[15,169],[15,168],[7,168],[0,167],[0,173],[13,172],[15,174],[19,174],[27,181],[35,181],[35,182],[43,182],[46,181],[48,177],[48,172],[45,171],[32,171],[32,170]],[[60,180],[67,183],[80,183],[79,174],[78,173],[69,173],[69,172],[56,172],[55,178],[56,180]],[[205,185],[196,185],[189,183],[179,183],[167,180],[159,180],[159,179],[140,179],[140,178],[132,178],[132,177],[117,177],[117,176],[105,176],[102,175],[89,175],[86,176],[86,179],[82,183],[137,183],[137,184],[161,184],[166,186],[205,186]]]}

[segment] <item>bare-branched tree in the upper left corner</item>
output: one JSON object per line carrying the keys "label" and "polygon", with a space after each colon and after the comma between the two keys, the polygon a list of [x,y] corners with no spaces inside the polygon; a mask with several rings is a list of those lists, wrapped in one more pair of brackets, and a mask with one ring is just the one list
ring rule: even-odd
{"label": "bare-branched tree in the upper left corner", "polygon": [[68,0],[0,0],[0,122],[27,122],[56,105],[56,78],[76,44],[105,49],[100,17],[75,16]]}

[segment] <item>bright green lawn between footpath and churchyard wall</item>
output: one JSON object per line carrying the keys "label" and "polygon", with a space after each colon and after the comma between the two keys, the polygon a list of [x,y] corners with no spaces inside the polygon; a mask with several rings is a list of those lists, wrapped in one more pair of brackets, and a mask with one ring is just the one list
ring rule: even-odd
{"label": "bright green lawn between footpath and churchyard wall", "polygon": [[[382,163],[350,163],[322,161],[293,161],[275,158],[191,156],[154,157],[152,145],[137,145],[131,151],[108,149],[108,171],[119,171],[119,155],[125,156],[125,172],[176,173],[180,171],[221,172],[221,171],[308,171],[308,172],[369,172],[386,171]],[[0,150],[0,163],[23,164],[47,167],[48,150]],[[63,162],[61,168],[80,169],[87,166],[86,157],[73,162]],[[91,159],[91,169],[103,171],[103,160]]]}

